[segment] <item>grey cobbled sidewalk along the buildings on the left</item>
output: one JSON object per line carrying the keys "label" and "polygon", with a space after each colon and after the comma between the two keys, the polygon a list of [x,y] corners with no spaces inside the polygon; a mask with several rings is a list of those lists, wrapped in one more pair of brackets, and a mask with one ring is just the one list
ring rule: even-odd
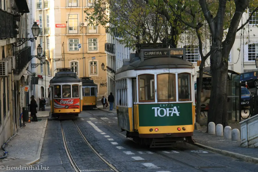
{"label": "grey cobbled sidewalk along the buildings on the left", "polygon": [[[39,111],[38,122],[26,122],[26,126],[21,128],[5,145],[8,152],[7,158],[0,160],[0,165],[4,166],[26,166],[39,161],[42,144],[50,111]],[[0,170],[1,171],[1,170]]]}

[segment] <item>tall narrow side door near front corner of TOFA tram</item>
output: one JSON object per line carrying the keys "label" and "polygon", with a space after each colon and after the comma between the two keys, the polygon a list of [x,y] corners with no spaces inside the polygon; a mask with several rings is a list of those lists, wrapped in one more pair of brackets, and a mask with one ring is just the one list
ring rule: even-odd
{"label": "tall narrow side door near front corner of TOFA tram", "polygon": [[132,112],[133,112],[133,117],[134,117],[134,130],[138,130],[138,106],[137,106],[137,84],[136,84],[136,78],[132,78]]}

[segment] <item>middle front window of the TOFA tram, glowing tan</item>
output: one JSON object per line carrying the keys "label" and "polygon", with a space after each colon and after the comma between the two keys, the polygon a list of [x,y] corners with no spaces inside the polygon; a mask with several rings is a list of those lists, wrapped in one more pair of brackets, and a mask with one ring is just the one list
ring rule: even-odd
{"label": "middle front window of the TOFA tram, glowing tan", "polygon": [[175,74],[162,73],[157,75],[158,101],[176,101]]}

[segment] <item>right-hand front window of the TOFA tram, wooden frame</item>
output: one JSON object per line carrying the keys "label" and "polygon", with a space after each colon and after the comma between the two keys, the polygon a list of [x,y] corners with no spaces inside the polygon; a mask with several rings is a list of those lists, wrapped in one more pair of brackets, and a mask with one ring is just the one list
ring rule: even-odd
{"label": "right-hand front window of the TOFA tram, wooden frame", "polygon": [[177,77],[179,101],[191,101],[191,75],[189,73],[179,73]]}

